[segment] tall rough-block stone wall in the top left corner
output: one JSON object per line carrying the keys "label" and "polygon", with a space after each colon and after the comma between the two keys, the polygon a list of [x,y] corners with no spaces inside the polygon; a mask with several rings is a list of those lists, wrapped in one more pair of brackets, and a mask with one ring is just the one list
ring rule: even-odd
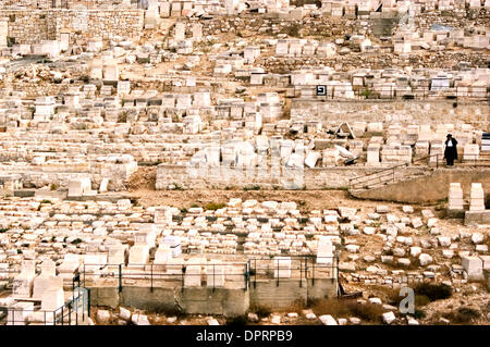
{"label": "tall rough-block stone wall in the top left corner", "polygon": [[60,40],[61,33],[76,39],[113,36],[139,37],[144,25],[143,10],[4,10],[0,17],[9,18],[9,35],[15,44]]}

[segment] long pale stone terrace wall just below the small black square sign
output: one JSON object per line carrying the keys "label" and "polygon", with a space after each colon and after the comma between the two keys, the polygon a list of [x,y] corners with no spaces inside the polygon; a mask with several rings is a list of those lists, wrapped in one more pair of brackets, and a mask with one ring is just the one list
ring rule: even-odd
{"label": "long pale stone terrace wall just below the small black square sign", "polygon": [[413,122],[468,123],[476,128],[490,128],[489,102],[451,101],[320,101],[293,99],[292,120],[322,122]]}

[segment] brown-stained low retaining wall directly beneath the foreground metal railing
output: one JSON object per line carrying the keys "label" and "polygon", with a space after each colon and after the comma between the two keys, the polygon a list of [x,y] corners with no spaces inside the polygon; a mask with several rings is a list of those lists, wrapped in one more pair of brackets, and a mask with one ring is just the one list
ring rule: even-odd
{"label": "brown-stained low retaining wall directly beneath the foreground metal railing", "polygon": [[335,278],[299,280],[282,278],[257,281],[250,283],[247,290],[243,288],[208,288],[208,287],[169,287],[123,286],[88,286],[90,305],[117,308],[131,307],[146,311],[170,311],[175,308],[175,298],[187,313],[224,314],[235,317],[245,314],[249,307],[270,307],[286,309],[298,300],[335,297],[338,284]]}

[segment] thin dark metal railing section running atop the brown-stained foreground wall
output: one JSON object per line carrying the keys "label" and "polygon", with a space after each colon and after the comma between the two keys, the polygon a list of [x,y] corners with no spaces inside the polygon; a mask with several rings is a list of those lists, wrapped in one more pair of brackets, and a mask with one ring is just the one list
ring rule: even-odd
{"label": "thin dark metal railing section running atop the brown-stained foreground wall", "polygon": [[[224,282],[232,281],[235,284],[243,283],[242,288],[247,290],[257,280],[274,280],[279,286],[281,278],[299,280],[299,286],[303,281],[311,280],[315,284],[316,278],[331,278],[334,281],[338,275],[339,258],[316,257],[316,256],[285,256],[291,259],[291,265],[280,265],[281,260],[277,258],[264,257],[252,258],[246,262],[223,262],[223,263],[192,263],[192,264],[83,264],[75,274],[73,285],[78,283],[81,286],[87,286],[90,281],[99,278],[115,280],[119,292],[124,286],[131,286],[130,281],[138,281],[138,284],[148,285],[150,292],[161,287],[163,283],[176,282],[181,290],[192,287],[188,282],[194,282],[193,276],[198,276],[200,282],[194,286],[200,286],[206,278],[206,286],[215,290],[224,287]],[[188,267],[206,268],[206,273],[189,273]],[[87,268],[99,268],[95,271],[87,271]],[[221,269],[220,269],[221,268]],[[170,270],[170,272],[169,272]],[[283,276],[282,271],[287,275]],[[126,281],[125,281],[126,280]],[[187,282],[188,281],[188,282]],[[136,283],[134,283],[136,284]],[[89,285],[88,285],[89,286]]]}

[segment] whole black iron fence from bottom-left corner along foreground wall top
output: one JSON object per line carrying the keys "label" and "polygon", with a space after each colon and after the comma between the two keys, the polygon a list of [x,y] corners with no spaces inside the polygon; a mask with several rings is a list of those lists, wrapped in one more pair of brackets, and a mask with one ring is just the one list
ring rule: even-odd
{"label": "whole black iron fence from bottom-left corner along foreground wall top", "polygon": [[[205,267],[206,273],[192,273],[189,267]],[[0,307],[7,312],[7,325],[79,325],[87,323],[90,315],[90,282],[114,280],[114,285],[122,292],[124,286],[149,285],[150,290],[176,282],[182,290],[185,287],[200,286],[204,276],[206,285],[213,290],[224,287],[225,281],[247,290],[256,287],[259,281],[281,282],[298,281],[299,287],[315,285],[316,280],[339,281],[339,257],[287,256],[258,257],[245,262],[187,263],[187,264],[82,264],[72,280],[72,297],[56,310],[41,310],[38,300],[21,299],[20,302],[33,302],[33,306]],[[5,271],[5,270],[3,270]],[[19,272],[9,271],[9,274]],[[199,280],[196,281],[196,276]],[[127,280],[132,280],[128,282]],[[108,283],[106,282],[106,285]],[[110,285],[110,284],[109,284]],[[34,305],[37,303],[37,305]]]}

